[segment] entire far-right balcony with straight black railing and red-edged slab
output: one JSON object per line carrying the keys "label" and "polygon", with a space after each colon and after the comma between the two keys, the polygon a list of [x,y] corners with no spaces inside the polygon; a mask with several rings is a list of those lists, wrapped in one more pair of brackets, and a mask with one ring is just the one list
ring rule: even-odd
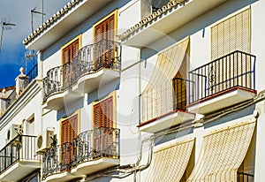
{"label": "entire far-right balcony with straight black railing and red-edged slab", "polygon": [[188,110],[207,114],[254,98],[256,57],[236,50],[189,72]]}

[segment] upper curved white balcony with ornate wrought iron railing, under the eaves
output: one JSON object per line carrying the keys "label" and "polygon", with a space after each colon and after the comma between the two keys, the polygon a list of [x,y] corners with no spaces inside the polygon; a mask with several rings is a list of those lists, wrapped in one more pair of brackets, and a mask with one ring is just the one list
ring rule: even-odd
{"label": "upper curved white balcony with ornate wrought iron railing, under the eaves", "polygon": [[43,79],[44,108],[60,110],[64,103],[81,98],[119,78],[120,45],[103,40],[79,49],[71,63],[57,66]]}

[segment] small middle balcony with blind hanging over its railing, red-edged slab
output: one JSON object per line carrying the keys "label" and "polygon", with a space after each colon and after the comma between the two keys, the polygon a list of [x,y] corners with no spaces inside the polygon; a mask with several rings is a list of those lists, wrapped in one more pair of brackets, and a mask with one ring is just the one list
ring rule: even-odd
{"label": "small middle balcony with blind hanging over its railing, red-edged slab", "polygon": [[142,121],[138,125],[140,131],[156,133],[193,120],[195,115],[186,111],[188,88],[192,84],[190,80],[175,78],[172,80],[172,90],[170,87],[157,89],[155,93],[158,96],[155,98],[142,95],[142,102],[146,104],[142,105]]}

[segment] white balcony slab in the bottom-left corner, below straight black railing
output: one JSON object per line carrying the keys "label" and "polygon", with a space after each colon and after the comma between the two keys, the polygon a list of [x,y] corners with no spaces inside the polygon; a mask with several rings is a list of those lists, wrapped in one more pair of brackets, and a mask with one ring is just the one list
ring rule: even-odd
{"label": "white balcony slab in the bottom-left corner, below straight black railing", "polygon": [[18,161],[0,175],[1,181],[19,181],[31,172],[41,169],[40,161]]}

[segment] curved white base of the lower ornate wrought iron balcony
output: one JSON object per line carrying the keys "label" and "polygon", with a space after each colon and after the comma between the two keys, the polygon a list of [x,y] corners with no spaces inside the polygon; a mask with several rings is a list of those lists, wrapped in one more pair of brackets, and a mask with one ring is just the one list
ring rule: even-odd
{"label": "curved white base of the lower ornate wrought iron balcony", "polygon": [[42,181],[45,182],[57,182],[57,181],[69,181],[75,178],[84,178],[85,175],[91,174],[95,171],[102,171],[104,169],[116,166],[119,164],[119,159],[102,157],[93,161],[85,163],[79,163],[71,171],[62,171],[60,173],[51,174]]}

